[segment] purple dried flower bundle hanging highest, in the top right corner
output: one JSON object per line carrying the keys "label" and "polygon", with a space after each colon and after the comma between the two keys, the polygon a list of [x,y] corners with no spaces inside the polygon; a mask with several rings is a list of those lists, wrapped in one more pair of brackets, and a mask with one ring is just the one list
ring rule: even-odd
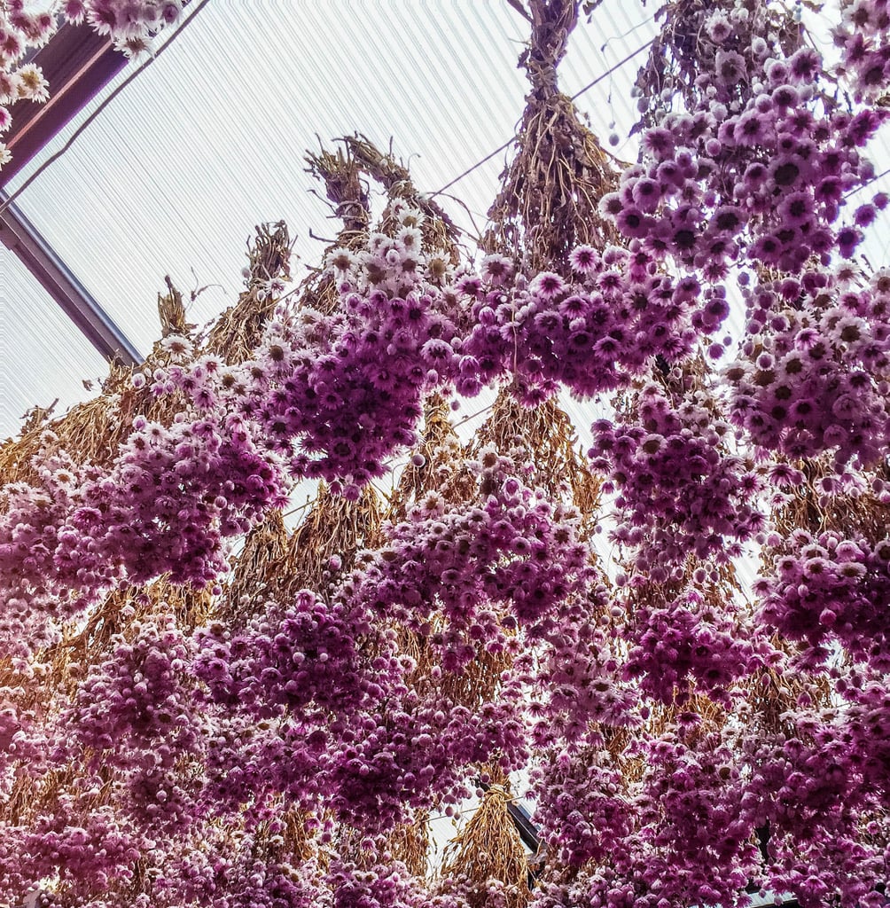
{"label": "purple dried flower bundle hanging highest, in the top right corner", "polygon": [[642,161],[603,198],[603,212],[648,252],[709,281],[734,262],[796,272],[832,252],[852,255],[885,197],[835,225],[845,195],[874,175],[859,149],[885,110],[851,110],[845,85],[776,5],[665,11],[666,34],[638,89],[667,104],[676,92],[683,109],[649,114]]}

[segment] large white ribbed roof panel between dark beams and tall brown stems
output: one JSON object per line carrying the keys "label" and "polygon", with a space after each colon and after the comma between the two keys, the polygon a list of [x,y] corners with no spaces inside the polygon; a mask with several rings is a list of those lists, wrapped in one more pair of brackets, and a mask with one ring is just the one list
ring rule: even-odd
{"label": "large white ribbed roof panel between dark beams and tall brown stems", "polygon": [[480,5],[475,23],[469,5],[264,12],[207,5],[18,200],[143,347],[165,273],[186,290],[223,286],[194,302],[193,321],[232,300],[254,223],[284,218],[297,252],[317,258],[309,231],[325,232],[329,212],[302,159],[317,135],[358,130],[382,147],[395,136],[417,182],[436,188],[508,138],[521,112],[510,38],[523,23],[499,5]]}

